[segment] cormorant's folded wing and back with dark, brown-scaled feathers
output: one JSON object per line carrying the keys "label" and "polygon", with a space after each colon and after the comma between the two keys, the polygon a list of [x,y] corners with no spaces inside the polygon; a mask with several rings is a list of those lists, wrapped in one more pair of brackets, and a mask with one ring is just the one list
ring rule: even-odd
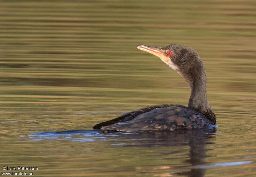
{"label": "cormorant's folded wing and back with dark, brown-scaled feathers", "polygon": [[[168,106],[168,107],[167,107]],[[211,122],[206,117],[188,107],[181,105],[164,105],[152,109],[141,109],[135,112],[126,113],[119,118],[110,120],[111,125],[105,124],[101,127],[106,131],[147,131],[147,130],[177,130],[192,128],[211,127]],[[132,114],[138,114],[134,118]],[[119,120],[118,120],[119,119]],[[116,123],[114,123],[114,120]],[[107,121],[108,122],[108,121]]]}

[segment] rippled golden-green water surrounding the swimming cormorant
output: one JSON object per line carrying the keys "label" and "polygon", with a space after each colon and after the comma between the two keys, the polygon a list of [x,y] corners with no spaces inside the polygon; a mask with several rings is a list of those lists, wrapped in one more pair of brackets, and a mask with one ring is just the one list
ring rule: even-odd
{"label": "rippled golden-green water surrounding the swimming cormorant", "polygon": [[[256,176],[255,9],[251,0],[1,1],[0,172]],[[92,130],[146,106],[188,104],[185,81],[136,49],[171,43],[201,56],[219,126]]]}

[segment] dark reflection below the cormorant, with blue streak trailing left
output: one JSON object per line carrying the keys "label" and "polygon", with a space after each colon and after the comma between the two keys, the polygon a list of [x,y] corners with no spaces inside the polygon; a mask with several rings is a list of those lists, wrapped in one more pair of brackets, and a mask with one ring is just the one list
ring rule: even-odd
{"label": "dark reflection below the cormorant, with blue streak trailing left", "polygon": [[[165,147],[165,155],[162,157],[163,160],[168,160],[171,163],[175,159],[182,159],[183,163],[175,168],[187,170],[182,170],[181,172],[178,170],[179,172],[174,174],[198,177],[204,176],[207,168],[205,166],[209,165],[205,162],[205,158],[209,157],[206,155],[206,152],[210,150],[207,149],[206,146],[207,144],[214,143],[213,141],[215,139],[215,135],[216,129],[183,130],[174,132],[148,131],[132,133],[104,133],[99,130],[68,130],[59,132],[31,133],[28,136],[28,139],[31,141],[68,140],[72,142],[111,141],[110,146],[120,146],[120,148],[122,148],[121,146],[130,148],[142,147],[146,149],[157,146]],[[184,148],[182,147],[186,146],[188,146],[189,149],[184,151]],[[90,152],[93,153],[94,151]],[[171,156],[168,156],[170,154]],[[183,154],[183,157],[180,157],[180,154]],[[184,155],[188,157],[184,158]],[[171,171],[171,169],[174,167],[170,164],[168,168],[170,168]]]}

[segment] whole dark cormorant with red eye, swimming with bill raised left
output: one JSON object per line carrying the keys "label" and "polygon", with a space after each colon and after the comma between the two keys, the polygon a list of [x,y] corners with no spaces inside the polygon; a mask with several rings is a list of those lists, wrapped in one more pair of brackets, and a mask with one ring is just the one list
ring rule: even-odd
{"label": "whole dark cormorant with red eye, swimming with bill raised left", "polygon": [[216,126],[216,116],[207,102],[205,69],[195,50],[177,44],[166,47],[139,45],[137,49],[159,57],[184,78],[191,91],[188,106],[174,104],[149,106],[97,124],[94,129],[134,132]]}

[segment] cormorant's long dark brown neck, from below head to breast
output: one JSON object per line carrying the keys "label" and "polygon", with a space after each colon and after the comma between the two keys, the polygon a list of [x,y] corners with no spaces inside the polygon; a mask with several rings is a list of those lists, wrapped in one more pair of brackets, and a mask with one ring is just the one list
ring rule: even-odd
{"label": "cormorant's long dark brown neck, from below head to breast", "polygon": [[188,77],[184,77],[187,82],[191,95],[188,102],[188,107],[197,112],[205,115],[207,119],[211,121],[213,125],[216,124],[216,116],[212,112],[212,108],[207,102],[206,95],[206,74],[204,67],[197,68],[193,72],[189,72]]}

